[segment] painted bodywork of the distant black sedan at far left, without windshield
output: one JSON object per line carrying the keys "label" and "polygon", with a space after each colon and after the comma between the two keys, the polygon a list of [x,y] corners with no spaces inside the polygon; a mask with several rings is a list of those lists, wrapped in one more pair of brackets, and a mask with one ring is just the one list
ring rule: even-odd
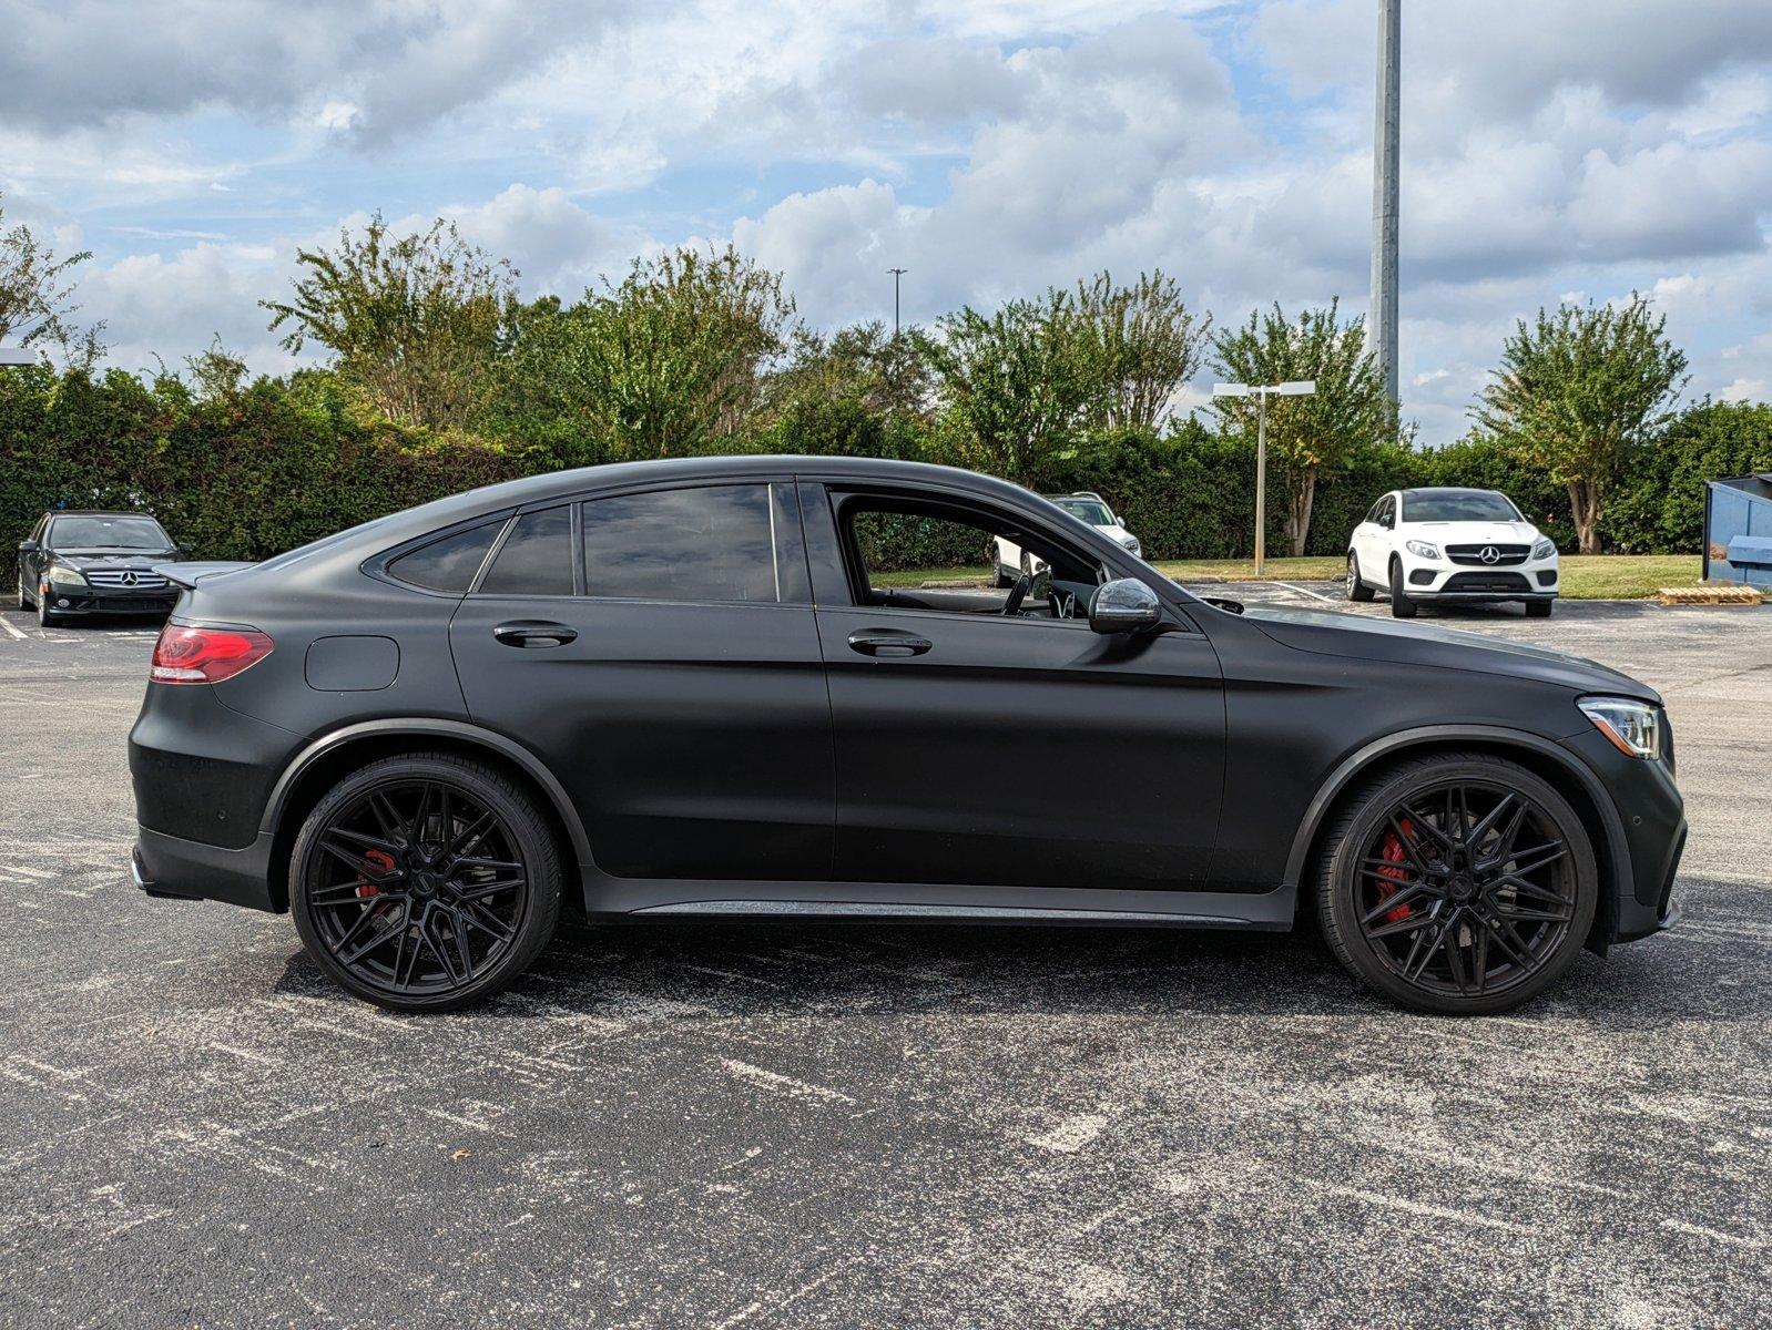
{"label": "painted bodywork of the distant black sedan at far left, without windshield", "polygon": [[[18,547],[19,607],[28,606],[39,613],[46,609],[57,620],[97,615],[168,615],[179,599],[179,588],[165,574],[156,572],[156,567],[179,561],[188,551],[174,544],[170,537],[163,545],[152,549],[120,549],[89,540],[69,540],[67,531],[85,519],[99,522],[142,519],[159,526],[158,521],[142,512],[87,508],[46,512]],[[165,528],[161,528],[161,535],[165,535]],[[82,574],[85,583],[78,586],[48,583],[51,565],[73,568]]]}

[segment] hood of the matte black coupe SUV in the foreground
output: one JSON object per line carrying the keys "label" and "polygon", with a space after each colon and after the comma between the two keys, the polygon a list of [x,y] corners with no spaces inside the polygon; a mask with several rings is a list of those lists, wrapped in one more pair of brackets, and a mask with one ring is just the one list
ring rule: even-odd
{"label": "hood of the matte black coupe SUV in the foreground", "polygon": [[1425,623],[1343,615],[1333,609],[1249,606],[1244,620],[1283,646],[1320,655],[1373,657],[1442,669],[1473,669],[1510,678],[1536,678],[1574,692],[1605,692],[1660,705],[1660,694],[1607,666],[1549,646],[1529,646],[1487,632],[1460,632]]}

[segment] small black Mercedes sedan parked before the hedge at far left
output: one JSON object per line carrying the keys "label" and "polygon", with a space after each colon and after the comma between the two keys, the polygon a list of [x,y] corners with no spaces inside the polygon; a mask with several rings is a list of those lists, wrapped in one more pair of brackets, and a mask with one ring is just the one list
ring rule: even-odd
{"label": "small black Mercedes sedan parked before the hedge at far left", "polygon": [[156,572],[190,553],[145,512],[46,512],[18,545],[18,607],[44,627],[94,615],[167,615],[177,588]]}

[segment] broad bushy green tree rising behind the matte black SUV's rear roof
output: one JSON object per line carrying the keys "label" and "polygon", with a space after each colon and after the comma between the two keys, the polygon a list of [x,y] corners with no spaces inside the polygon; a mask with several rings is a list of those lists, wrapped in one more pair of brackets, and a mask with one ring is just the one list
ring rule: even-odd
{"label": "broad bushy green tree rising behind the matte black SUV's rear roof", "polygon": [[794,301],[732,246],[636,260],[602,294],[517,321],[514,400],[579,457],[680,457],[739,434]]}

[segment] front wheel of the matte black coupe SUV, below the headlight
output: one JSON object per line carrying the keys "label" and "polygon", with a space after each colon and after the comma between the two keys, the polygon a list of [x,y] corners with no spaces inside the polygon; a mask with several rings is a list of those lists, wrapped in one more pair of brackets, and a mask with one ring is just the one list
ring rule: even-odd
{"label": "front wheel of the matte black coupe SUV, below the headlight", "polygon": [[[1442,843],[1448,832],[1462,857]],[[1538,997],[1575,963],[1600,898],[1575,809],[1488,753],[1416,758],[1366,781],[1324,831],[1317,864],[1317,921],[1336,958],[1393,1001],[1439,1015]]]}

